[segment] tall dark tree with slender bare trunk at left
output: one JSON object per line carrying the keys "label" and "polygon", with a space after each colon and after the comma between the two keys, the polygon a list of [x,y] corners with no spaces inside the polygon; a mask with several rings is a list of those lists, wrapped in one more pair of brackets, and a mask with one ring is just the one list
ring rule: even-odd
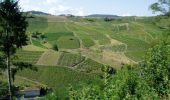
{"label": "tall dark tree with slender bare trunk at left", "polygon": [[20,12],[18,0],[0,1],[0,26],[2,27],[0,49],[6,58],[10,100],[12,99],[11,55],[15,54],[17,48],[26,45],[27,25],[26,17]]}

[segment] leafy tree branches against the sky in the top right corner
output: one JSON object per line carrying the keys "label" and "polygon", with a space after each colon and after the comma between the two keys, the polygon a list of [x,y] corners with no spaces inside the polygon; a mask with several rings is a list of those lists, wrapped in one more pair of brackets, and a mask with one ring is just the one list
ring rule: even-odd
{"label": "leafy tree branches against the sky in the top right corner", "polygon": [[170,16],[170,0],[158,0],[158,2],[150,6],[150,9],[152,9],[154,13],[160,12]]}

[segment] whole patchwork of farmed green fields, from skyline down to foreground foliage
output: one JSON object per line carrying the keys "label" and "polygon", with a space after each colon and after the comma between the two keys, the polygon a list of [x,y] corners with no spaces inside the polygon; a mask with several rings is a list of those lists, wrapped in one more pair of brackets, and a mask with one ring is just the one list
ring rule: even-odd
{"label": "whole patchwork of farmed green fields, from skyline down to foreground foliage", "polygon": [[[119,72],[123,66],[135,66],[145,61],[150,48],[162,41],[170,44],[167,35],[170,17],[167,16],[55,16],[38,11],[24,14],[29,16],[26,19],[27,45],[16,50],[11,62],[27,63],[32,68],[17,70],[13,84],[19,89],[47,88],[59,100],[68,98],[70,88],[102,85],[106,66],[112,74]],[[126,73],[126,70],[120,73]],[[0,81],[7,82],[7,77],[2,72]],[[121,80],[122,77],[116,78]],[[53,94],[49,94],[49,98]]]}

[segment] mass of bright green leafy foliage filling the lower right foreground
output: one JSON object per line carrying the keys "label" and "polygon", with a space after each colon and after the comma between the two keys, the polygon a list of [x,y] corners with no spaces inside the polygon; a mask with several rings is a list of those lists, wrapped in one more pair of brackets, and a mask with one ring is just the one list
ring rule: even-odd
{"label": "mass of bright green leafy foliage filling the lower right foreground", "polygon": [[[104,67],[103,85],[70,88],[70,99],[159,100],[170,93],[170,52],[166,43],[153,47],[145,61],[125,65],[114,76]],[[94,87],[97,87],[94,89]],[[93,91],[95,90],[95,91]],[[93,94],[93,95],[91,95]]]}

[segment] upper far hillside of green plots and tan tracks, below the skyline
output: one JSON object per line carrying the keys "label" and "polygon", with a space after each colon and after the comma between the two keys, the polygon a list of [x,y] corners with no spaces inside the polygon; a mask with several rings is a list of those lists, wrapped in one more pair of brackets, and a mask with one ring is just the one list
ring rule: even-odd
{"label": "upper far hillside of green plots and tan tracks, below the skyline", "polygon": [[79,17],[39,16],[29,20],[28,32],[45,35],[46,43],[35,38],[31,41],[47,51],[56,44],[60,52],[80,53],[113,67],[141,61],[146,50],[159,41],[162,34],[147,18],[92,20],[94,22]]}

